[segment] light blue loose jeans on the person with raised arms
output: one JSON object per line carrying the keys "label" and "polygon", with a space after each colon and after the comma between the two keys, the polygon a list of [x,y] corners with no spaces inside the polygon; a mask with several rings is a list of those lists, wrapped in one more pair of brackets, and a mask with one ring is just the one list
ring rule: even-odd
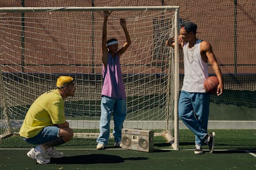
{"label": "light blue loose jeans on the person with raised arms", "polygon": [[123,122],[126,117],[126,99],[115,99],[102,95],[101,98],[101,115],[99,123],[99,137],[97,143],[105,145],[109,142],[110,137],[110,120],[113,112],[115,141],[121,141]]}

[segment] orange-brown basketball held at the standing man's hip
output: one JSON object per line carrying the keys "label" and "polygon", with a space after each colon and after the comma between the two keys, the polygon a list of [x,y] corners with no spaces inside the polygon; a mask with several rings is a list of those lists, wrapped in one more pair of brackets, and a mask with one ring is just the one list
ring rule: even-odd
{"label": "orange-brown basketball held at the standing man's hip", "polygon": [[216,76],[210,76],[204,81],[204,89],[210,94],[217,94],[219,80]]}

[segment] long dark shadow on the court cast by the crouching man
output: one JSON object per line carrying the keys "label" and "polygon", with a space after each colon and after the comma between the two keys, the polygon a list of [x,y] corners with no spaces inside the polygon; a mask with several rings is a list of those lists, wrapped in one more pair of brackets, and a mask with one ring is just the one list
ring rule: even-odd
{"label": "long dark shadow on the court cast by the crouching man", "polygon": [[121,163],[125,160],[147,160],[146,157],[122,158],[116,155],[91,154],[62,158],[51,158],[53,164],[96,164],[96,163]]}

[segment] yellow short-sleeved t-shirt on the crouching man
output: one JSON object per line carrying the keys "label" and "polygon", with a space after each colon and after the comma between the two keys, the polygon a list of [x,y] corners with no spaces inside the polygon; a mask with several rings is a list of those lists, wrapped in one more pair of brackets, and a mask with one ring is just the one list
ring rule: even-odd
{"label": "yellow short-sleeved t-shirt on the crouching man", "polygon": [[31,138],[46,126],[65,122],[64,101],[57,89],[50,90],[40,95],[30,106],[19,134]]}

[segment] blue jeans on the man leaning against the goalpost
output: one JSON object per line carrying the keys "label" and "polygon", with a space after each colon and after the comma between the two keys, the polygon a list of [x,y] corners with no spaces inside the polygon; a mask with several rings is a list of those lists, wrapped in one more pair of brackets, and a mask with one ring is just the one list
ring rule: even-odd
{"label": "blue jeans on the man leaning against the goalpost", "polygon": [[179,100],[179,117],[195,134],[196,144],[204,145],[208,134],[209,93],[181,91]]}

